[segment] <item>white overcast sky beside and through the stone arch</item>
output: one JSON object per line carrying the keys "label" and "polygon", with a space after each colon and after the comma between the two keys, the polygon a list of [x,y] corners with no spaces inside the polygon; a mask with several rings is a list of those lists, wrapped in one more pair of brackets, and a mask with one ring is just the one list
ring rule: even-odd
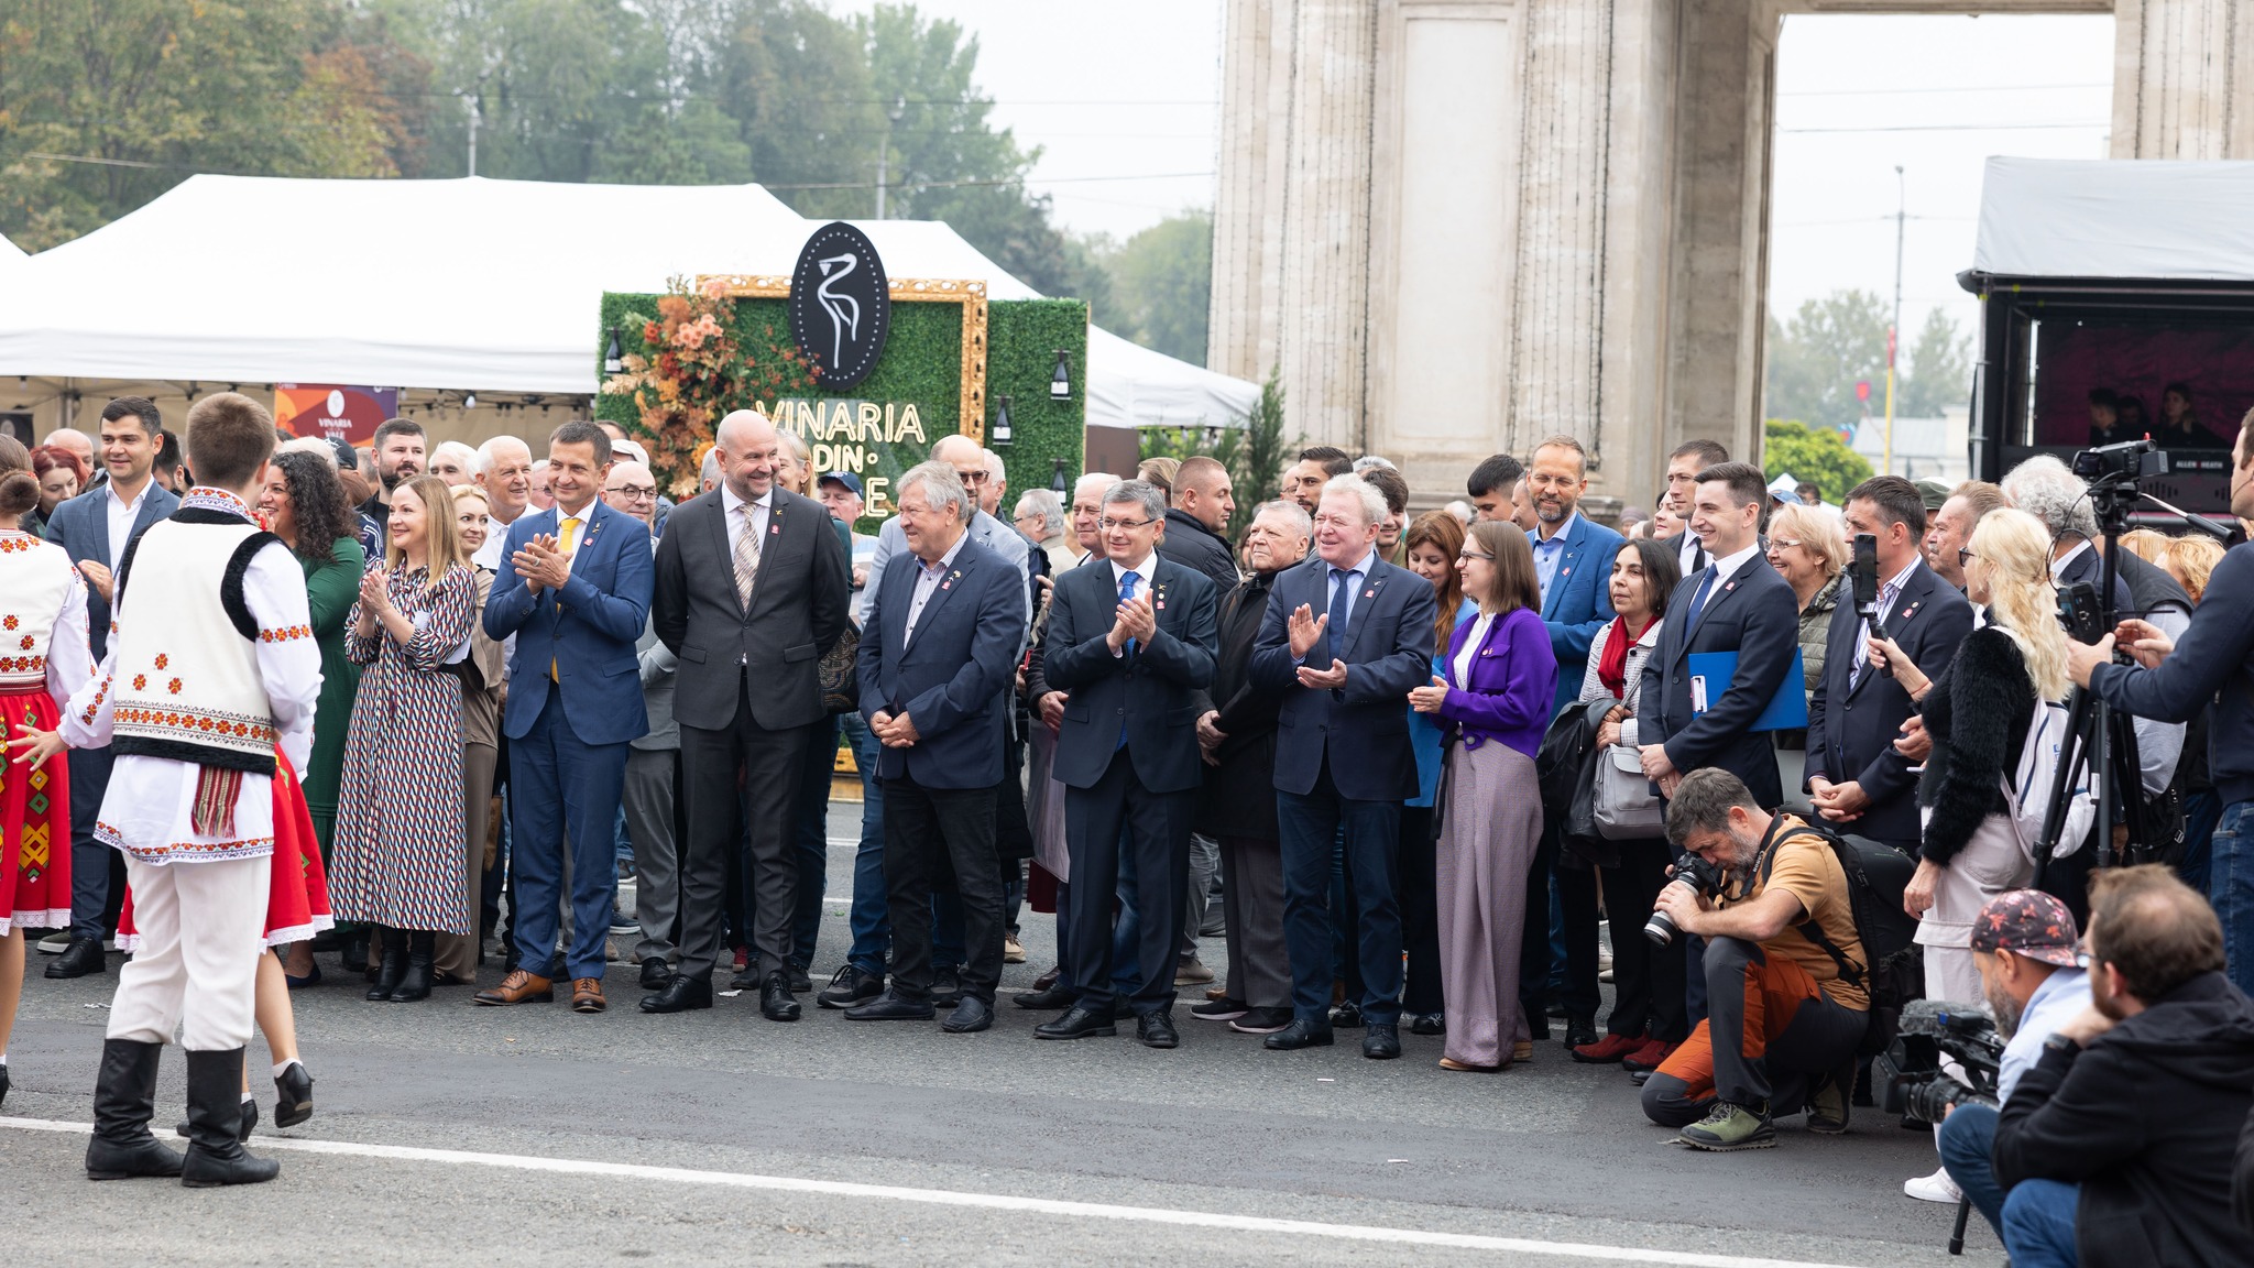
{"label": "white overcast sky beside and through the stone arch", "polygon": [[[863,11],[870,0],[838,0]],[[1222,5],[1215,0],[920,0],[978,36],[996,120],[1041,147],[1035,190],[1082,232],[1127,237],[1213,203]],[[1778,47],[1769,302],[1862,287],[1893,296],[1893,167],[1905,232],[1902,325],[1934,305],[1975,325],[1972,264],[1990,153],[2103,158],[2107,16],[1794,16]],[[2040,124],[2015,129],[1999,124]],[[1851,131],[1835,131],[1851,129]],[[1866,131],[1902,129],[1902,131]],[[1091,180],[1095,178],[1095,180]]]}

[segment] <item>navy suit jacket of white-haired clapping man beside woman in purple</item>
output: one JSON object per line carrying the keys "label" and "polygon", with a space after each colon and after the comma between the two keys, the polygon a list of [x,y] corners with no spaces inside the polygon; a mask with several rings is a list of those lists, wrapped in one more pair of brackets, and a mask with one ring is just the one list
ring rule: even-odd
{"label": "navy suit jacket of white-haired clapping man beside woman in purple", "polygon": [[1253,643],[1251,677],[1267,690],[1285,693],[1276,713],[1278,792],[1314,792],[1328,756],[1339,796],[1409,801],[1418,794],[1409,693],[1431,681],[1436,602],[1431,582],[1377,560],[1355,596],[1346,652],[1332,652],[1332,659],[1346,661],[1346,686],[1314,690],[1298,686],[1289,620],[1301,605],[1316,616],[1330,611],[1330,564],[1310,555],[1305,564],[1276,573]]}

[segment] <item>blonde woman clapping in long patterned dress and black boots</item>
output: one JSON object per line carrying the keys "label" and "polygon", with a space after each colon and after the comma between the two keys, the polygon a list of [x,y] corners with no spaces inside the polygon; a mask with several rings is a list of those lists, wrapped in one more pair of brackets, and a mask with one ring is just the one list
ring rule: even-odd
{"label": "blonde woman clapping in long patterned dress and black boots", "polygon": [[478,602],[446,481],[392,490],[383,566],[361,580],[345,652],[367,670],[345,733],[334,875],[338,921],[383,927],[367,1000],[431,995],[437,932],[473,934],[462,875],[462,679]]}

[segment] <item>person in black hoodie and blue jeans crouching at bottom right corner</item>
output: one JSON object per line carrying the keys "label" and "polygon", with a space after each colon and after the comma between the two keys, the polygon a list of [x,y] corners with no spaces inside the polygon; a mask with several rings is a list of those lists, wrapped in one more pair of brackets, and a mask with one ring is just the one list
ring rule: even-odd
{"label": "person in black hoodie and blue jeans crouching at bottom right corner", "polygon": [[2087,945],[2089,1009],[1995,1124],[2013,1266],[2254,1263],[2229,1194],[2254,1006],[2222,977],[2213,909],[2166,866],[2101,871]]}

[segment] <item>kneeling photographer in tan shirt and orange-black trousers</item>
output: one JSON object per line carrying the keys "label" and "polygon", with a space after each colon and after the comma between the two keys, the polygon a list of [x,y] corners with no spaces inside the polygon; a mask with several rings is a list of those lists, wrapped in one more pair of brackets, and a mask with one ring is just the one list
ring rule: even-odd
{"label": "kneeling photographer in tan shirt and orange-black trousers", "polygon": [[1720,873],[1711,896],[1684,878],[1657,900],[1679,934],[1706,939],[1709,1015],[1643,1085],[1643,1115],[1711,1153],[1774,1146],[1772,1115],[1803,1106],[1808,1130],[1846,1130],[1871,997],[1833,957],[1869,972],[1830,842],[1713,767],[1675,790],[1668,839]]}

